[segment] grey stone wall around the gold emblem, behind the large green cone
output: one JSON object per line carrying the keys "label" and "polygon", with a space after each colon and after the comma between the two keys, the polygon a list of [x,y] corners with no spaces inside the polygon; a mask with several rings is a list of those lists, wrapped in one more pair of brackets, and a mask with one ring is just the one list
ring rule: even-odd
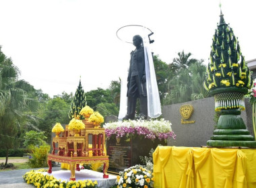
{"label": "grey stone wall around the gold emblem, behind the large green cone", "polygon": [[[193,114],[186,121],[193,121],[193,124],[181,124],[181,113],[179,111],[182,105],[192,105]],[[246,110],[242,111],[241,116],[247,125],[247,129],[253,134],[252,111],[251,104],[245,99]],[[168,146],[205,146],[207,140],[213,134],[214,126],[214,97],[200,99],[197,101],[189,101],[174,105],[166,105],[162,107],[162,115],[165,120],[172,123],[172,130],[177,134],[176,140],[168,139]]]}

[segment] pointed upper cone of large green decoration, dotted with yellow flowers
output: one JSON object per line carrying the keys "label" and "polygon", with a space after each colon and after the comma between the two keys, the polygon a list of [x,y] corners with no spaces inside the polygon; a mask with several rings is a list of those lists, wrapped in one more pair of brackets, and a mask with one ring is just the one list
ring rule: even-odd
{"label": "pointed upper cone of large green decoration, dotted with yellow flowers", "polygon": [[220,23],[212,38],[210,62],[207,66],[205,89],[226,87],[251,88],[251,72],[242,55],[238,38],[226,24],[221,11]]}

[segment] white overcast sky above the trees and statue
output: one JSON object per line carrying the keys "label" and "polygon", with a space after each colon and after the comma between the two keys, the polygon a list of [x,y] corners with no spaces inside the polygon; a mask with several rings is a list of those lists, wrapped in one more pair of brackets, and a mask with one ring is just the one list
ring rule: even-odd
{"label": "white overcast sky above the trees and statue", "polygon": [[[20,79],[53,95],[85,91],[127,73],[132,44],[117,38],[130,24],[150,28],[154,54],[166,63],[185,50],[207,59],[220,19],[219,0],[0,0],[0,45]],[[256,58],[256,1],[222,0],[245,60]],[[121,30],[122,31],[122,30]],[[120,32],[121,32],[120,31]],[[121,33],[120,33],[121,34]],[[131,36],[132,37],[132,36]]]}

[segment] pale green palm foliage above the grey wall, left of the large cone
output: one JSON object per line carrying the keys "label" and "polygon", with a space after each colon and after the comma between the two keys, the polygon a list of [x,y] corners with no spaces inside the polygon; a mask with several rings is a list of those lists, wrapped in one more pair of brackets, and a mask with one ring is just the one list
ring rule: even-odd
{"label": "pale green palm foliage above the grey wall, left of the large cone", "polygon": [[176,74],[168,81],[168,93],[163,104],[183,103],[191,100],[203,99],[208,92],[203,88],[206,77],[206,66],[203,60],[189,59],[191,53],[184,51],[178,53],[179,58],[174,58],[170,70]]}

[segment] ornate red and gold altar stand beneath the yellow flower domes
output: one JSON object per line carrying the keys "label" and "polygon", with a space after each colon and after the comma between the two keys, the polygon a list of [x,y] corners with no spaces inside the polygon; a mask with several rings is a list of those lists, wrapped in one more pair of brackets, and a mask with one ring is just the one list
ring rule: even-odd
{"label": "ornate red and gold altar stand beneath the yellow flower domes", "polygon": [[[90,135],[92,135],[92,148],[89,148]],[[103,178],[108,178],[106,173],[108,170],[108,156],[104,152],[104,145],[104,128],[85,128],[79,132],[79,136],[74,136],[74,133],[69,131],[68,126],[66,126],[61,137],[53,138],[53,151],[47,157],[48,173],[52,173],[52,160],[65,162],[70,164],[70,180],[75,181],[75,170],[80,171],[80,163],[92,164],[94,162],[103,162]],[[57,150],[58,152],[56,153]],[[93,156],[89,156],[89,150],[92,150]]]}

